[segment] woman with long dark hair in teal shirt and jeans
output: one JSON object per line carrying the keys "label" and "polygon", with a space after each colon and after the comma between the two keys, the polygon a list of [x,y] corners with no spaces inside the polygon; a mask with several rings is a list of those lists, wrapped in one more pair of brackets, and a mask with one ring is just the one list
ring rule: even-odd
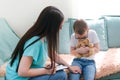
{"label": "woman with long dark hair in teal shirt and jeans", "polygon": [[[66,80],[64,71],[56,72],[55,62],[80,73],[79,67],[68,65],[56,52],[63,21],[62,12],[53,6],[41,12],[36,23],[17,44],[6,67],[7,80]],[[45,67],[48,56],[51,66]]]}

